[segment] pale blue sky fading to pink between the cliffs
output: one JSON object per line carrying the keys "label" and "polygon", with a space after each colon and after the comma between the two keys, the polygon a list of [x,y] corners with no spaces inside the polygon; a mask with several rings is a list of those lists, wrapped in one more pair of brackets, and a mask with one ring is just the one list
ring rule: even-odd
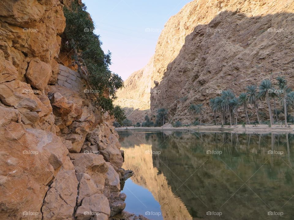
{"label": "pale blue sky fading to pink between the cliffs", "polygon": [[164,24],[190,1],[82,0],[102,49],[112,53],[110,70],[123,80],[148,63]]}

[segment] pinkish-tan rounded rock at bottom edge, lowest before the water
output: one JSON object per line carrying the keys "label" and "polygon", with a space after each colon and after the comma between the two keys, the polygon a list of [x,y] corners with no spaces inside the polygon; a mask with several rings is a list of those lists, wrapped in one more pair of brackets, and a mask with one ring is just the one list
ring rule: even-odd
{"label": "pinkish-tan rounded rock at bottom edge, lowest before the water", "polygon": [[88,220],[98,213],[110,215],[108,199],[99,193],[83,199],[82,205],[77,208],[75,217],[77,220]]}

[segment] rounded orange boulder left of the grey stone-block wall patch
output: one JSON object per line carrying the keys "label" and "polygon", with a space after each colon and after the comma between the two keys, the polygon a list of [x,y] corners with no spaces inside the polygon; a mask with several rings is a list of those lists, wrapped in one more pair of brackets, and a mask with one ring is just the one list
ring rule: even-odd
{"label": "rounded orange boulder left of the grey stone-block wall patch", "polygon": [[25,75],[33,87],[43,90],[52,75],[51,65],[35,58],[28,65],[28,70]]}

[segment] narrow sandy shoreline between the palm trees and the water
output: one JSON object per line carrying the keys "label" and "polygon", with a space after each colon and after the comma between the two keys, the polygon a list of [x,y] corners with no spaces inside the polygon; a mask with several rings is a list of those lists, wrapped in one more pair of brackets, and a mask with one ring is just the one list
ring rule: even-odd
{"label": "narrow sandy shoreline between the palm trees and the water", "polygon": [[281,127],[281,125],[202,125],[202,126],[188,126],[188,127],[119,127],[115,128],[117,131],[123,130],[148,130],[148,131],[196,131],[196,132],[233,132],[233,133],[291,133],[294,134],[294,126],[292,127]]}

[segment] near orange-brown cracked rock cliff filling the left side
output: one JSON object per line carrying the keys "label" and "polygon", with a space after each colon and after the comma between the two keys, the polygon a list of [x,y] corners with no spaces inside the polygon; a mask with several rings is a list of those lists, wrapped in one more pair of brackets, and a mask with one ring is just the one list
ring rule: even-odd
{"label": "near orange-brown cracked rock cliff filling the left side", "polygon": [[105,220],[125,207],[120,181],[130,173],[113,118],[62,65],[69,3],[0,2],[1,220]]}

